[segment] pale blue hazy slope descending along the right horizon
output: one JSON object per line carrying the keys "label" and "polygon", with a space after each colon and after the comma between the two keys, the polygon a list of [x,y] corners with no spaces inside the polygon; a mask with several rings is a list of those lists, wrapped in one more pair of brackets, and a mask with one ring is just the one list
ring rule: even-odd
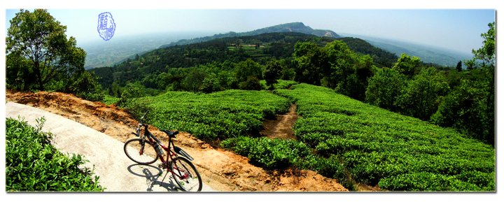
{"label": "pale blue hazy slope descending along the right horizon", "polygon": [[395,41],[370,36],[360,36],[356,34],[342,35],[362,38],[371,45],[374,45],[388,52],[393,52],[397,56],[400,56],[402,53],[406,53],[407,55],[420,57],[421,61],[423,62],[439,64],[441,66],[456,66],[458,61],[463,61],[472,57],[472,55],[470,55],[469,53],[464,54],[461,52],[436,48],[428,45],[414,44],[404,41]]}

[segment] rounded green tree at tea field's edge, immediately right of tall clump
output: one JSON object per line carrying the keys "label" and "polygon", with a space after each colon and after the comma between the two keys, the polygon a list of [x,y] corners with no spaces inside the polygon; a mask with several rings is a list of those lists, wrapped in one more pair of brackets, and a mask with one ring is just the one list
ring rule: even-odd
{"label": "rounded green tree at tea field's edge, immediately right of tall clump", "polygon": [[374,106],[397,111],[395,99],[405,87],[406,77],[402,73],[382,68],[370,78],[365,92],[365,101]]}

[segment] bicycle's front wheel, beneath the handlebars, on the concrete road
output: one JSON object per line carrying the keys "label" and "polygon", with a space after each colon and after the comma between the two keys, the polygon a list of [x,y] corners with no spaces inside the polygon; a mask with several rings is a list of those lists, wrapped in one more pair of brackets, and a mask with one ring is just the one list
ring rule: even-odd
{"label": "bicycle's front wheel, beneath the handlebars, on the concrete road", "polygon": [[[142,149],[143,148],[143,149]],[[144,141],[144,146],[141,145],[140,138],[127,140],[124,146],[125,154],[128,158],[135,161],[137,164],[148,165],[158,161],[158,155],[155,148],[148,141]]]}

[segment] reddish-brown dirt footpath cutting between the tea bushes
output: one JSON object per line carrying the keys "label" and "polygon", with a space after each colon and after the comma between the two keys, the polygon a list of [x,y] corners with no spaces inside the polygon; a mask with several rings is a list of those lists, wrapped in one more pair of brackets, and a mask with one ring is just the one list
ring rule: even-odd
{"label": "reddish-brown dirt footpath cutting between the tea bushes", "polygon": [[274,120],[263,122],[262,127],[264,127],[264,130],[259,133],[268,138],[296,139],[292,129],[298,117],[295,112],[296,108],[295,104],[291,104],[288,113],[276,115]]}

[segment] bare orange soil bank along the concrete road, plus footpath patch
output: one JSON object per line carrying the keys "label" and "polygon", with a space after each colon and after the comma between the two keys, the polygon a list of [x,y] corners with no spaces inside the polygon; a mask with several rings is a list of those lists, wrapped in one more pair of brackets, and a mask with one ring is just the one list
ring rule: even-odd
{"label": "bare orange soil bank along the concrete road, plus footpath patch", "polygon": [[[22,103],[62,115],[76,122],[101,131],[121,142],[133,138],[131,134],[138,122],[127,112],[116,106],[106,106],[104,103],[85,101],[72,94],[59,92],[13,92],[6,91],[6,100]],[[293,108],[293,110],[292,110]],[[287,121],[280,121],[278,138],[293,138],[292,124],[295,122],[294,112],[285,115]],[[279,115],[281,117],[282,115]],[[282,119],[282,117],[281,117]],[[288,126],[291,122],[290,127]],[[274,124],[274,123],[272,123]],[[276,124],[278,126],[278,124]],[[288,131],[286,128],[290,129]],[[150,131],[167,143],[165,134],[150,127]],[[275,129],[276,130],[276,129]],[[274,137],[274,138],[275,138]],[[174,143],[186,150],[195,158],[193,163],[198,167],[207,185],[221,191],[281,191],[281,192],[339,192],[348,191],[337,180],[325,178],[314,171],[292,170],[265,171],[262,168],[248,164],[246,157],[233,152],[211,147],[202,140],[181,132]]]}

